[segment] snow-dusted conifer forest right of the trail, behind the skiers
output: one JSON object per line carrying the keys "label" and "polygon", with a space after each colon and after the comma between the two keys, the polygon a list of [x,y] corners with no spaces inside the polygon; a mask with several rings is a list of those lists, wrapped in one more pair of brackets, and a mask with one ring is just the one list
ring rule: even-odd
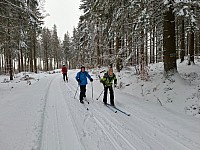
{"label": "snow-dusted conifer forest right of the trail, behind the skiers", "polygon": [[[196,0],[82,0],[71,39],[73,67],[138,66],[142,79],[150,63],[164,62],[165,75],[188,65],[200,52],[200,2]],[[187,56],[187,57],[185,57]]]}

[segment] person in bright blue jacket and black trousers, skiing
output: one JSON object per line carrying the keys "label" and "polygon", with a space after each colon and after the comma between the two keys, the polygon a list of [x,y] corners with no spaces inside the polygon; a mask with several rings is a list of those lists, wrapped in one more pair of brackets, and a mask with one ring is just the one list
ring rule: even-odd
{"label": "person in bright blue jacket and black trousers, skiing", "polygon": [[93,82],[93,79],[89,75],[87,71],[85,71],[85,67],[81,67],[81,71],[76,74],[76,80],[80,86],[80,102],[83,103],[83,98],[86,97],[86,85],[88,84],[87,78]]}

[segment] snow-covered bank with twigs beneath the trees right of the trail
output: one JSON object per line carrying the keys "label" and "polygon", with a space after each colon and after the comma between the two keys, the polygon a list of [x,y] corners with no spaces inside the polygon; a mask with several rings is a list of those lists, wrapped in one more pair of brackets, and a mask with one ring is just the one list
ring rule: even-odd
{"label": "snow-covered bank with twigs beneath the trees right of the trail", "polygon": [[120,91],[200,118],[200,62],[191,66],[186,63],[178,60],[179,75],[169,79],[163,77],[163,63],[150,65],[149,81],[141,81],[135,68],[124,68],[118,74]]}

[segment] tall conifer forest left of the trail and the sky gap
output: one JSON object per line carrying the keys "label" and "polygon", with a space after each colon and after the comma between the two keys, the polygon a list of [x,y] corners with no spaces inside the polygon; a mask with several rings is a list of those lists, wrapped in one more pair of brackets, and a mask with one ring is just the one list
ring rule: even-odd
{"label": "tall conifer forest left of the trail and the sky gap", "polygon": [[43,27],[44,0],[1,0],[0,74],[60,68],[64,61],[57,27]]}

